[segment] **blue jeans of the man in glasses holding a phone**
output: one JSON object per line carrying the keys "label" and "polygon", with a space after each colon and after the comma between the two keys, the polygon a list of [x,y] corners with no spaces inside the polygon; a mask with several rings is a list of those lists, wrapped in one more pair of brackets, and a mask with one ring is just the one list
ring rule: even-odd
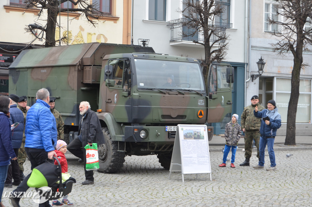
{"label": "blue jeans of the man in glasses holding a phone", "polygon": [[264,149],[266,149],[266,144],[268,145],[268,153],[269,153],[269,158],[271,161],[271,167],[275,167],[275,153],[273,149],[274,145],[274,138],[262,138],[260,136],[260,142],[259,142],[259,154],[260,154],[260,159],[259,159],[259,165],[264,166]]}

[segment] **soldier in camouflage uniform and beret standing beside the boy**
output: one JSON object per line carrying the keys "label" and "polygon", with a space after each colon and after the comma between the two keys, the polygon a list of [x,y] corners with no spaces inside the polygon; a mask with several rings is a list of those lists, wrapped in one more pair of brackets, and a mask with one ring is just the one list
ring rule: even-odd
{"label": "soldier in camouflage uniform and beret standing beside the boy", "polygon": [[255,140],[255,145],[257,147],[257,158],[260,158],[259,155],[259,141],[260,141],[260,125],[261,118],[254,116],[253,111],[255,107],[258,107],[259,111],[265,109],[259,104],[259,97],[254,95],[251,97],[251,105],[247,106],[243,113],[241,114],[241,130],[245,133],[245,161],[239,166],[249,166],[249,159],[252,153],[252,143]]}

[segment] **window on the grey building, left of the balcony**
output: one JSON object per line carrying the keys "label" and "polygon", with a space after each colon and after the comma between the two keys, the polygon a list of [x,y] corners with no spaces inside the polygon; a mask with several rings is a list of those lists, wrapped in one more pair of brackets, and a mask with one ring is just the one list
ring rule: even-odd
{"label": "window on the grey building, left of the balcony", "polygon": [[149,0],[149,20],[166,21],[166,0]]}

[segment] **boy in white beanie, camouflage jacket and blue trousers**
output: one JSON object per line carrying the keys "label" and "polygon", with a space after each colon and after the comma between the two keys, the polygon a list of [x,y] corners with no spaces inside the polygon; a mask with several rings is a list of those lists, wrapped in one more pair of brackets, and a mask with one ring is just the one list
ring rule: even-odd
{"label": "boy in white beanie, camouflage jacket and blue trousers", "polygon": [[226,167],[225,163],[227,161],[227,154],[229,154],[229,151],[232,148],[231,168],[235,168],[234,161],[237,143],[239,139],[241,139],[241,126],[237,123],[237,120],[238,115],[233,114],[232,120],[225,126],[225,147],[223,153],[223,163],[220,164],[219,167]]}

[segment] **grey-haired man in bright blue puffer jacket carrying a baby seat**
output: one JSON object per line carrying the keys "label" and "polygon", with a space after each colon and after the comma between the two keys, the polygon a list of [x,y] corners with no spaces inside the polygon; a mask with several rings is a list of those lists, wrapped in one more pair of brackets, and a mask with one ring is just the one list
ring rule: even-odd
{"label": "grey-haired man in bright blue puffer jacket carrying a baby seat", "polygon": [[[25,127],[25,151],[29,157],[31,163],[31,169],[37,167],[40,164],[45,163],[46,159],[52,159],[56,156],[53,144],[57,141],[57,129],[56,121],[53,114],[50,111],[50,93],[46,88],[41,88],[36,93],[36,103],[27,112],[26,127]],[[54,163],[51,160],[51,163]],[[13,196],[11,202],[13,206],[20,206],[19,200],[23,193],[29,188],[27,181],[31,174],[27,175],[22,183],[13,190]],[[16,193],[15,193],[16,194]],[[39,206],[50,206],[49,201],[46,201]]]}

